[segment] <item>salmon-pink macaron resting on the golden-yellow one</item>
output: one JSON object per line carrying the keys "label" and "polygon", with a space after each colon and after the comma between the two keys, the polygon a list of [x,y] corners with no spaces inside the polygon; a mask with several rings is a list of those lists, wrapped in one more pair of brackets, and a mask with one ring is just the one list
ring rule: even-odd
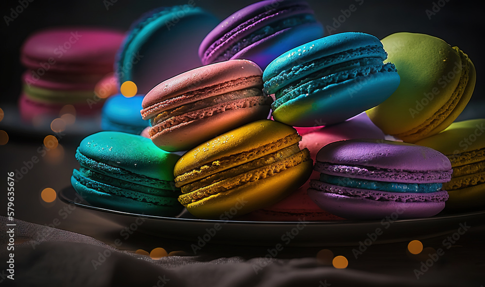
{"label": "salmon-pink macaron resting on the golden-yellow one", "polygon": [[265,119],[262,71],[247,60],[202,66],[163,81],[142,102],[153,143],[166,151],[194,148],[226,131]]}

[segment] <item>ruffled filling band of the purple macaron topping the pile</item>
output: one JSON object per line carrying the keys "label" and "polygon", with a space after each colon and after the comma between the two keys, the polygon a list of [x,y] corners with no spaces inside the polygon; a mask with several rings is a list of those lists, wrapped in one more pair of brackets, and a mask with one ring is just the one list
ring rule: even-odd
{"label": "ruffled filling band of the purple macaron topping the pile", "polygon": [[[267,10],[264,13],[244,21],[236,28],[225,32],[221,38],[214,41],[203,54],[202,59],[204,64],[229,60],[242,49],[257,43],[276,32],[307,23],[317,23],[312,13],[313,12],[306,4],[299,4],[283,9]],[[268,25],[249,35],[245,35],[248,31],[251,31],[250,29],[254,29],[261,25],[261,23],[268,23]],[[238,38],[238,40],[235,41],[232,46],[228,47],[228,44],[235,38]]]}

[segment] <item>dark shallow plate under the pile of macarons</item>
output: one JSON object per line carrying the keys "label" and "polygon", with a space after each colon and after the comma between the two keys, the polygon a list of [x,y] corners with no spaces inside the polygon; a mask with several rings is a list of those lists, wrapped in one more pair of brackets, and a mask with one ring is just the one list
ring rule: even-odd
{"label": "dark shallow plate under the pile of macarons", "polygon": [[[91,209],[97,215],[121,225],[128,226],[135,217],[145,221],[138,231],[157,237],[196,242],[199,238],[211,243],[238,245],[275,246],[350,246],[373,237],[373,244],[403,242],[425,239],[453,233],[460,223],[480,225],[485,211],[438,215],[430,218],[396,219],[375,221],[328,221],[328,222],[252,222],[203,220],[181,214],[177,218],[133,214],[93,207],[84,202],[72,187],[59,193],[59,198],[77,207]],[[380,230],[376,232],[376,229]],[[207,240],[209,239],[209,240]]]}

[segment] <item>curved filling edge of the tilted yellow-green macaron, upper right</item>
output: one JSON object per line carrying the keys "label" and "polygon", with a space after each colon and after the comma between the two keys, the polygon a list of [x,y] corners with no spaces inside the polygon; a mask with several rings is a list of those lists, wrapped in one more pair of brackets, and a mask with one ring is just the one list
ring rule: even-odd
{"label": "curved filling edge of the tilted yellow-green macaron, upper right", "polygon": [[438,127],[454,110],[458,105],[461,96],[463,95],[465,88],[467,87],[469,75],[470,75],[470,62],[468,55],[463,53],[458,47],[453,47],[454,50],[460,55],[461,58],[461,75],[458,85],[453,91],[450,99],[443,105],[438,111],[430,118],[426,119],[422,124],[416,128],[412,128],[406,132],[395,134],[393,136],[404,139],[406,142],[414,143],[413,138],[421,138],[423,134],[430,133],[433,129]]}

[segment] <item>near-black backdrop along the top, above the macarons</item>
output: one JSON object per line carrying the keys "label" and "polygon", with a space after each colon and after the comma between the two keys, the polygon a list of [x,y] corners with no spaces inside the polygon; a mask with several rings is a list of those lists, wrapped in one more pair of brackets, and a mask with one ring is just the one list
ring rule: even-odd
{"label": "near-black backdrop along the top, above the macarons", "polygon": [[[25,0],[27,1],[27,0]],[[115,1],[112,3],[112,1]],[[193,0],[202,7],[224,19],[255,0]],[[44,27],[62,25],[104,26],[128,30],[131,22],[144,12],[160,6],[186,4],[188,0],[83,0],[45,1],[33,0],[14,21],[5,24],[4,16],[10,16],[11,8],[19,5],[18,0],[3,0],[0,23],[0,66],[1,102],[14,102],[20,91],[20,75],[24,70],[19,64],[19,50],[26,37]],[[480,47],[484,31],[483,10],[477,1],[471,0],[308,0],[317,18],[326,27],[338,18],[340,10],[357,6],[340,27],[338,32],[366,32],[379,39],[394,32],[421,32],[439,37],[452,46],[458,46],[467,53],[477,69],[477,84],[470,103],[485,101],[484,84],[481,81],[484,69],[483,48]],[[358,5],[362,3],[362,5]],[[440,10],[429,19],[426,10],[432,10],[434,3]],[[107,6],[107,7],[106,7]],[[108,8],[108,9],[107,9]],[[325,29],[327,31],[327,29]],[[327,32],[328,34],[328,32]],[[480,105],[481,106],[481,105]],[[481,107],[480,107],[481,108]],[[470,104],[458,118],[483,117],[477,105]]]}

